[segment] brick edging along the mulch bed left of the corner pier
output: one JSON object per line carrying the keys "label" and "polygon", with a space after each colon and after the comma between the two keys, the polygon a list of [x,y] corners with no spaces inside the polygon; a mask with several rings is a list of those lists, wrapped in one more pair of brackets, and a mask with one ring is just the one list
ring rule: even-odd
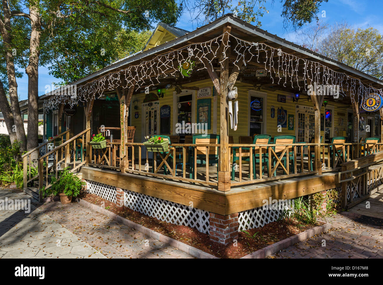
{"label": "brick edging along the mulch bed left of the corner pier", "polygon": [[119,223],[122,223],[128,227],[133,228],[134,230],[138,232],[141,232],[147,236],[150,236],[151,238],[155,238],[156,240],[166,243],[167,245],[178,248],[180,251],[190,254],[191,256],[194,256],[196,258],[218,258],[210,253],[205,253],[205,251],[201,251],[201,249],[187,245],[186,243],[182,243],[181,241],[175,240],[173,238],[169,238],[169,236],[162,235],[161,233],[154,232],[154,230],[151,230],[150,228],[144,227],[142,225],[139,225],[138,223],[132,222],[131,220],[125,219],[119,215],[116,215],[115,213],[111,211],[103,209],[102,207],[92,204],[88,201],[85,201],[80,198],[77,198],[76,201],[85,207],[88,207],[103,215],[106,215],[112,218],[113,220],[116,220]]}

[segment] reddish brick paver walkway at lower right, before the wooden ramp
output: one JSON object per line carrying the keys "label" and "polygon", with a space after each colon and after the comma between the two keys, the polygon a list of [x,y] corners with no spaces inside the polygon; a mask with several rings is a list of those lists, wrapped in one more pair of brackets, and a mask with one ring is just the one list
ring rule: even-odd
{"label": "reddish brick paver walkway at lower right, before the wooden ramp", "polygon": [[[383,201],[380,202],[383,208]],[[358,213],[366,202],[353,211],[341,212],[332,221],[335,229],[283,249],[269,258],[383,258],[383,219],[373,217],[376,209]],[[323,240],[326,241],[325,246]]]}

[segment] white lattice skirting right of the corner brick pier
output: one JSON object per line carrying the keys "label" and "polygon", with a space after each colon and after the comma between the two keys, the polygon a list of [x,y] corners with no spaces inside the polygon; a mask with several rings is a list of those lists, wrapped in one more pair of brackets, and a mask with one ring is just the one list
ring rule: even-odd
{"label": "white lattice skirting right of the corner brick pier", "polygon": [[267,223],[275,222],[282,214],[285,206],[292,207],[294,200],[278,202],[277,207],[258,207],[255,209],[238,213],[238,222],[240,230],[263,227]]}

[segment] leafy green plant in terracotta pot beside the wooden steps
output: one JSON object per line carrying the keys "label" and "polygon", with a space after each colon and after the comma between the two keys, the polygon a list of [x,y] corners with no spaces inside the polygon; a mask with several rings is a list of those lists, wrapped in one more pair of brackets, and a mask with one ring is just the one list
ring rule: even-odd
{"label": "leafy green plant in terracotta pot beside the wooden steps", "polygon": [[62,204],[72,202],[72,197],[78,196],[85,185],[85,182],[69,171],[69,167],[60,171],[59,178],[52,176],[51,182],[52,186],[50,188],[42,188],[40,191],[46,197],[59,195]]}

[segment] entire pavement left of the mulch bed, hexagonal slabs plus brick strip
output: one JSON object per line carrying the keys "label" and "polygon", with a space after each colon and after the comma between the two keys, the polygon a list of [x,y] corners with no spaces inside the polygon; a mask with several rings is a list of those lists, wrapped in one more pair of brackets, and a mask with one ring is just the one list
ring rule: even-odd
{"label": "entire pavement left of the mulch bed, hexagonal slabs plus brick strip", "polygon": [[[30,198],[0,190],[5,197]],[[33,205],[29,214],[0,211],[0,258],[193,258],[79,203]]]}

